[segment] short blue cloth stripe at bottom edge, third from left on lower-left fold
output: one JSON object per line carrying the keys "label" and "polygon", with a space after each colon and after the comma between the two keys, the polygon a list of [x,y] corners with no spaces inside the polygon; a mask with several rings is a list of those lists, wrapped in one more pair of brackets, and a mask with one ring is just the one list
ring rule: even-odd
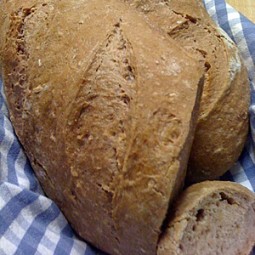
{"label": "short blue cloth stripe at bottom edge, third from left on lower-left fold", "polygon": [[73,247],[74,236],[71,227],[67,224],[61,231],[61,238],[57,244],[54,255],[69,254]]}

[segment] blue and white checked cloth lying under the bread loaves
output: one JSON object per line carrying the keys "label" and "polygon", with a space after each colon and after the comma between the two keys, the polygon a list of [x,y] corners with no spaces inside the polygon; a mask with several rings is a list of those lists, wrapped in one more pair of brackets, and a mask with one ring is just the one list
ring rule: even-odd
{"label": "blue and white checked cloth lying under the bread loaves", "polygon": [[[255,191],[255,25],[224,0],[204,1],[215,22],[238,45],[252,91],[249,139],[240,160],[222,179]],[[75,236],[57,206],[44,196],[8,118],[1,81],[0,89],[0,255],[99,254]]]}

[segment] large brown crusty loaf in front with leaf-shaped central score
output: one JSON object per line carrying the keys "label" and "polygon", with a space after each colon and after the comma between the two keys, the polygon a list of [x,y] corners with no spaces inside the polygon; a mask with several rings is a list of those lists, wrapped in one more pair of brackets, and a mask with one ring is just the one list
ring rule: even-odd
{"label": "large brown crusty loaf in front with leaf-shaped central score", "polygon": [[155,255],[182,187],[203,70],[120,0],[1,1],[10,116],[74,229]]}

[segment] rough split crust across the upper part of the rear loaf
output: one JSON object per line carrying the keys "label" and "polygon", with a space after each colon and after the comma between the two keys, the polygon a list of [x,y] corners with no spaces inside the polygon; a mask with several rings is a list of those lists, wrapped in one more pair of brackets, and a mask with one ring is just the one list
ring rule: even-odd
{"label": "rough split crust across the upper part of the rear loaf", "polygon": [[[145,13],[148,16],[148,23],[150,25],[153,23],[158,24],[160,29],[172,39],[180,43],[188,51],[192,50],[193,53],[196,53],[205,69],[206,79],[205,89],[201,99],[200,119],[206,118],[215,105],[217,105],[217,102],[224,99],[225,91],[229,89],[230,85],[227,84],[228,86],[225,87],[210,85],[211,82],[221,84],[221,82],[218,81],[218,77],[215,77],[215,73],[219,73],[222,66],[224,66],[224,68],[228,67],[228,56],[225,58],[226,65],[224,65],[224,63],[219,63],[217,58],[220,55],[226,55],[228,51],[225,48],[225,43],[223,41],[224,36],[219,35],[213,26],[208,25],[208,20],[203,20],[201,18],[204,15],[201,11],[201,3],[196,3],[196,5],[201,8],[201,13],[198,6],[196,6],[196,11],[194,12],[194,15],[192,15],[190,13],[187,14],[185,10],[183,11],[181,4],[175,1],[126,0],[125,2],[128,2],[137,10]],[[188,1],[184,4],[188,5]],[[194,5],[194,3],[192,4]],[[186,7],[184,7],[184,9]],[[148,12],[146,10],[150,11]],[[166,20],[169,22],[166,22]],[[202,36],[203,42],[206,42],[204,44],[199,40]],[[208,44],[210,46],[208,46]],[[218,47],[215,45],[218,45]],[[216,57],[214,58],[212,56]],[[227,72],[228,70],[226,70],[226,73]]]}

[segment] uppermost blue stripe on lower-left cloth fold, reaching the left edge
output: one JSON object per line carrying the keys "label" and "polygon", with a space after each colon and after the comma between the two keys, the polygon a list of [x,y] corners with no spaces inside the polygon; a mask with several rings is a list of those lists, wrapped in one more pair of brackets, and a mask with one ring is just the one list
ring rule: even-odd
{"label": "uppermost blue stripe on lower-left cloth fold, reaching the left edge", "polygon": [[20,211],[38,198],[33,192],[22,190],[0,210],[0,236],[4,235],[10,224],[17,218]]}

